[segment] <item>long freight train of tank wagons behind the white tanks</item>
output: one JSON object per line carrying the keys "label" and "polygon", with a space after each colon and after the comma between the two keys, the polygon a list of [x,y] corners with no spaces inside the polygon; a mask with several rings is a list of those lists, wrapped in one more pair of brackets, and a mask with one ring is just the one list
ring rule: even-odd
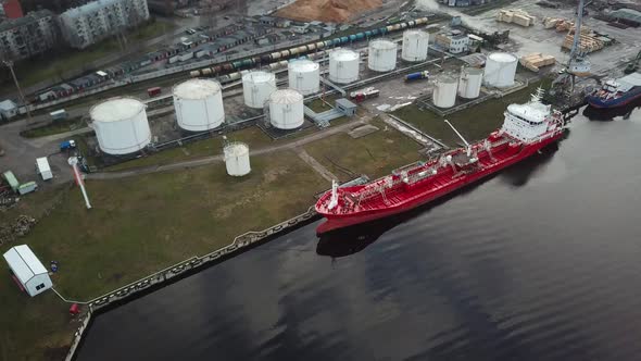
{"label": "long freight train of tank wagons behind the white tanks", "polygon": [[[352,43],[354,41],[366,40],[373,37],[385,36],[390,33],[395,33],[400,30],[404,30],[406,28],[416,27],[427,23],[427,17],[419,17],[416,20],[412,20],[409,22],[398,23],[393,25],[382,26],[376,29],[370,29],[366,32],[361,32],[352,35],[345,35],[341,37],[336,37],[332,39],[317,41],[307,43],[300,47],[293,47],[287,50],[276,51],[272,53],[265,53],[263,55],[256,55],[252,58],[246,58],[242,60],[237,60],[224,64],[218,64],[212,67],[203,67],[201,70],[192,71],[189,74],[191,77],[201,77],[201,76],[221,76],[223,74],[228,74],[232,76],[234,79],[239,79],[241,77],[240,70],[243,69],[251,69],[256,65],[264,65],[269,64],[269,69],[278,69],[281,66],[287,65],[287,59],[291,58],[300,58],[302,55],[306,55],[309,59],[317,59],[322,55],[326,54],[326,51],[323,49],[329,49],[338,46],[344,46],[348,43]],[[320,51],[319,51],[320,50]],[[322,55],[318,55],[322,53]],[[275,67],[272,67],[275,66]],[[230,74],[231,73],[231,74]],[[222,83],[232,80],[230,78],[219,78]]]}

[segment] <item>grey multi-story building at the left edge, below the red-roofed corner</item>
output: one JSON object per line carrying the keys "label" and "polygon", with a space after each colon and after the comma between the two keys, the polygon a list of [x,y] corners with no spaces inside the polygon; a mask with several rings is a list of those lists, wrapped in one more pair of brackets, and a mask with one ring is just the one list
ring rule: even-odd
{"label": "grey multi-story building at the left edge, below the red-roofed corner", "polygon": [[52,49],[60,35],[55,15],[49,10],[0,23],[0,60],[21,60]]}

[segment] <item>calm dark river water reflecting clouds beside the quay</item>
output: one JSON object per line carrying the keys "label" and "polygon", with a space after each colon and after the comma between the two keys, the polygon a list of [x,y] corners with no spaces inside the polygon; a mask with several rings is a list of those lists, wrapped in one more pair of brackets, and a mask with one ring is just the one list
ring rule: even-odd
{"label": "calm dark river water reflecting clouds beside the quay", "polygon": [[581,111],[557,151],[420,212],[314,223],[109,311],[77,360],[641,360],[625,113]]}

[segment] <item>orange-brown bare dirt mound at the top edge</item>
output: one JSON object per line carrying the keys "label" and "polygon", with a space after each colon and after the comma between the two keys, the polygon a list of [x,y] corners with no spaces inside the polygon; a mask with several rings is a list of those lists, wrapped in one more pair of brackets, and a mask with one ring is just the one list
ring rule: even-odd
{"label": "orange-brown bare dirt mound at the top edge", "polygon": [[343,23],[360,12],[381,5],[382,0],[298,0],[276,15],[304,22]]}

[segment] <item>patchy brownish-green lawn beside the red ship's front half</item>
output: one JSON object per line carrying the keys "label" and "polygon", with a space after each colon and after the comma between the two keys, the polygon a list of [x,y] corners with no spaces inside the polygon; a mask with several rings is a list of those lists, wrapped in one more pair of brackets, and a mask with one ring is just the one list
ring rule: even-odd
{"label": "patchy brownish-green lawn beside the red ship's front half", "polygon": [[306,145],[304,149],[341,182],[361,174],[379,177],[420,159],[420,145],[382,121],[374,120],[370,124],[379,130],[357,139],[341,133]]}

